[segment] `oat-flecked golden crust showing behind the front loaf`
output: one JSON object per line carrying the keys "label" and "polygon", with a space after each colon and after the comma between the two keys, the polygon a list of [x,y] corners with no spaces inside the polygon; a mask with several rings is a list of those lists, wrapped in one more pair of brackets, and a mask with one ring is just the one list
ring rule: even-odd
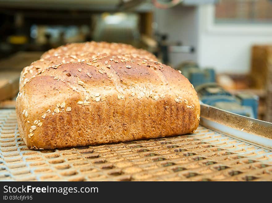
{"label": "oat-flecked golden crust showing behind the front loaf", "polygon": [[107,42],[73,43],[51,49],[41,56],[40,60],[24,67],[20,76],[19,90],[38,72],[47,67],[66,62],[80,62],[101,58],[105,56],[119,56],[121,58],[141,58],[158,61],[158,59],[146,50],[136,49],[131,45]]}

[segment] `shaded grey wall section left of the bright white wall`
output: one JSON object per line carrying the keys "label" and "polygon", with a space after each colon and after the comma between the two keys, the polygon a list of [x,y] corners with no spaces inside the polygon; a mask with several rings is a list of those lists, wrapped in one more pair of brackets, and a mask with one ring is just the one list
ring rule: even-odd
{"label": "shaded grey wall section left of the bright white wall", "polygon": [[[168,42],[183,42],[183,45],[198,45],[198,9],[195,6],[175,6],[171,9],[154,9],[154,22],[160,33],[168,34]],[[169,53],[173,67],[185,60],[197,60],[194,53]]]}

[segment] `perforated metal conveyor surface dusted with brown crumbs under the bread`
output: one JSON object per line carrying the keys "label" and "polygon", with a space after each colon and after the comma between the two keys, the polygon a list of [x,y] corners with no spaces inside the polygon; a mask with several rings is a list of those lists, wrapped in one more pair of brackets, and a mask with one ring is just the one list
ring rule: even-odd
{"label": "perforated metal conveyor surface dusted with brown crumbs under the bread", "polygon": [[272,180],[272,152],[205,127],[194,134],[30,150],[15,110],[0,110],[0,180]]}

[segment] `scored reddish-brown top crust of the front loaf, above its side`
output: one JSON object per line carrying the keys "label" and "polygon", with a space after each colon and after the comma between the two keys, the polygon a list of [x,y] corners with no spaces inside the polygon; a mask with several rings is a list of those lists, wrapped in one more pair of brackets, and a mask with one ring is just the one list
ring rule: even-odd
{"label": "scored reddish-brown top crust of the front loaf, above its side", "polygon": [[[73,91],[88,92],[93,91],[92,89],[104,89],[105,94],[108,94],[110,88],[120,94],[128,95],[134,92],[137,97],[146,97],[149,91],[149,96],[155,98],[166,93],[176,95],[175,98],[178,98],[180,93],[189,90],[183,89],[184,84],[187,86],[190,84],[180,71],[162,63],[145,59],[123,60],[115,56],[67,62],[46,68],[32,77],[22,90],[33,93],[32,83],[40,80],[37,78],[47,78],[48,83],[54,83],[54,80],[60,81],[65,86],[71,87]],[[191,85],[189,86],[193,89]]]}

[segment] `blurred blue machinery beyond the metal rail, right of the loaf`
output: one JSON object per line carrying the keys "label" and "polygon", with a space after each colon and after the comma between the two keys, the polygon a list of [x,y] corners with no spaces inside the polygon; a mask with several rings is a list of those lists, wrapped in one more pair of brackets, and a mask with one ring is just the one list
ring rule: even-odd
{"label": "blurred blue machinery beyond the metal rail, right of the loaf", "polygon": [[239,115],[258,118],[259,97],[252,93],[231,94],[215,82],[213,68],[200,68],[198,64],[189,61],[180,64],[176,69],[194,85],[203,103]]}

